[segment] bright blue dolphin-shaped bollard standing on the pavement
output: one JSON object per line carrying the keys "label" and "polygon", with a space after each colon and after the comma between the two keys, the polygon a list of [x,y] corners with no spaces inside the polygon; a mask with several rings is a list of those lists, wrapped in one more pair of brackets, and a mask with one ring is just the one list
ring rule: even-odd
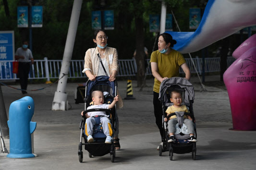
{"label": "bright blue dolphin-shaped bollard standing on the pavement", "polygon": [[23,97],[12,102],[9,109],[10,154],[8,158],[34,158],[31,146],[31,134],[36,130],[37,122],[32,122],[35,104],[32,97]]}

